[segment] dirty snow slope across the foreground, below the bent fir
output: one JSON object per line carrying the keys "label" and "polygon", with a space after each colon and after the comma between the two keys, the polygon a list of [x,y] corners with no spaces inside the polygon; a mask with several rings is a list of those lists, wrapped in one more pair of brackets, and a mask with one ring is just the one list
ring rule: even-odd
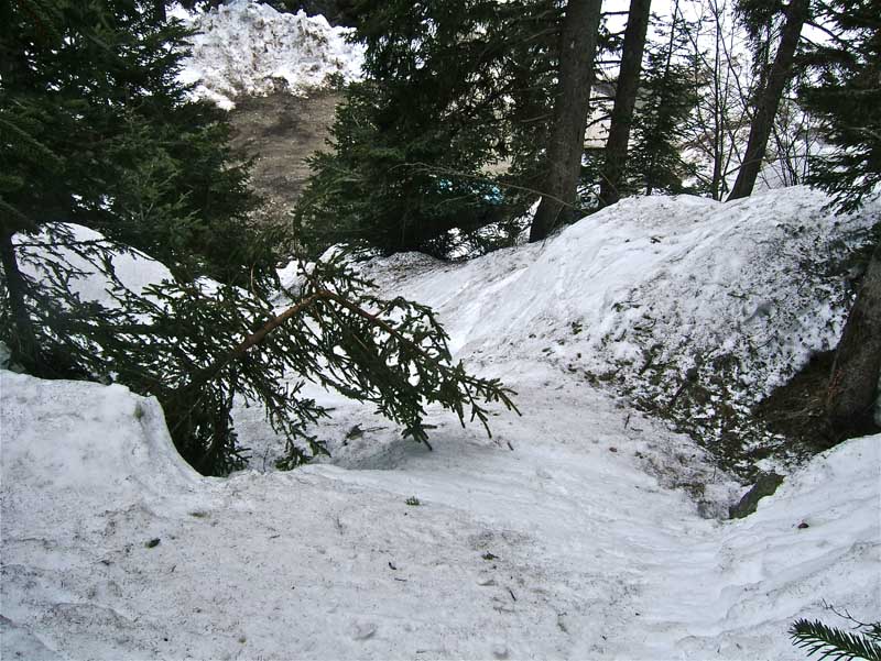
{"label": "dirty snow slope across the foreground, below the bent fir", "polygon": [[824,597],[877,616],[881,437],[719,524],[640,467],[687,441],[523,368],[502,444],[439,417],[393,470],[227,481],[152,400],[0,373],[2,657],[798,659]]}

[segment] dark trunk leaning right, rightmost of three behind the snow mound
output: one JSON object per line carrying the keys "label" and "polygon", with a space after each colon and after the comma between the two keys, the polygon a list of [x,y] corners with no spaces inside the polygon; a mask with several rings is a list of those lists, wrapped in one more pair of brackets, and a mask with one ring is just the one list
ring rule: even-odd
{"label": "dark trunk leaning right, rightmost of three behind the snow mound", "polygon": [[783,34],[780,37],[776,55],[774,55],[774,63],[768,73],[768,81],[764,89],[759,92],[755,114],[753,114],[752,124],[750,125],[747,151],[743,154],[743,163],[737,175],[735,187],[731,189],[731,195],[728,196],[729,201],[752,195],[752,188],[755,186],[755,179],[759,178],[759,170],[762,167],[768,139],[771,136],[771,129],[774,125],[774,117],[780,107],[783,89],[792,77],[795,49],[798,47],[802,26],[807,20],[808,4],[808,0],[790,0],[790,4],[786,8],[786,23],[783,25]]}

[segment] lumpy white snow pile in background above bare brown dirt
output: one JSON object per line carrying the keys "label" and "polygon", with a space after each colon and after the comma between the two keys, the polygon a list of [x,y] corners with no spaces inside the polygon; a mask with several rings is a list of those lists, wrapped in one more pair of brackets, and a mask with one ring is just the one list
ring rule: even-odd
{"label": "lumpy white snow pile in background above bare brown dirt", "polygon": [[328,85],[331,76],[344,81],[361,76],[363,47],[346,41],[351,30],[331,27],[324,16],[235,0],[191,20],[198,34],[178,79],[196,84],[197,97],[226,110],[239,95],[303,95]]}

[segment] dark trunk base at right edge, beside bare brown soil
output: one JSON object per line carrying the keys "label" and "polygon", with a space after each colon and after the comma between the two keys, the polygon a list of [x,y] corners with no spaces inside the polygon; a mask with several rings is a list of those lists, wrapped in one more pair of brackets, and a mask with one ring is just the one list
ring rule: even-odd
{"label": "dark trunk base at right edge, beside bare brown soil", "polygon": [[881,377],[881,244],[850,310],[826,394],[826,415],[838,436],[870,429]]}

